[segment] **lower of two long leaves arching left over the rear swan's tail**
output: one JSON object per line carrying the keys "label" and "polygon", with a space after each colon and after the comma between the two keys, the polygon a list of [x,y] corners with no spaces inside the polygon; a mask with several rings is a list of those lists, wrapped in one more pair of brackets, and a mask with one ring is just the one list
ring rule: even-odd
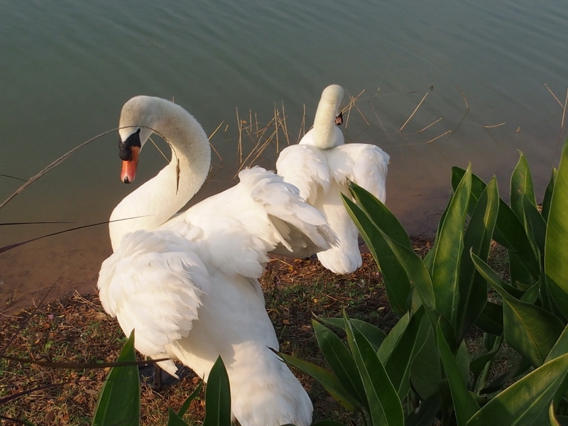
{"label": "lower of two long leaves arching left over the rear swan's tail", "polygon": [[376,227],[371,217],[368,217],[366,212],[349,200],[348,197],[345,195],[342,195],[342,197],[349,216],[359,229],[359,233],[377,265],[381,268],[389,305],[398,315],[403,315],[407,310],[406,304],[410,293],[410,282],[403,266],[400,265],[400,261],[393,255],[392,251],[388,249],[384,232]]}

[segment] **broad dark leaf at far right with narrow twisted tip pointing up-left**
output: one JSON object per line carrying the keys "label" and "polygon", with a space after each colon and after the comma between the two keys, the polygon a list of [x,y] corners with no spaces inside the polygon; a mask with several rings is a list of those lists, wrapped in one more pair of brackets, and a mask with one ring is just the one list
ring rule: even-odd
{"label": "broad dark leaf at far right with narrow twisted tip pointing up-left", "polygon": [[503,328],[505,339],[520,354],[540,366],[562,333],[562,322],[550,312],[511,296],[502,286],[498,275],[474,253],[476,268],[503,298]]}

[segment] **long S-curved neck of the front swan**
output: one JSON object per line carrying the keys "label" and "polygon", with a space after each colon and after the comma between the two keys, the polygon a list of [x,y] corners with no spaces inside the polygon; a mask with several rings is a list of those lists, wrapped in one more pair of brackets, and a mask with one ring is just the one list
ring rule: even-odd
{"label": "long S-curved neck of the front swan", "polygon": [[[191,114],[165,99],[138,97],[129,102],[135,99],[139,105],[135,103],[127,109],[127,103],[123,108],[121,129],[128,129],[127,126],[135,130],[137,126],[153,129],[170,143],[172,160],[113,210],[109,223],[113,250],[118,248],[124,234],[155,229],[167,222],[200,189],[211,164],[209,140]],[[146,131],[145,138],[151,133]]]}

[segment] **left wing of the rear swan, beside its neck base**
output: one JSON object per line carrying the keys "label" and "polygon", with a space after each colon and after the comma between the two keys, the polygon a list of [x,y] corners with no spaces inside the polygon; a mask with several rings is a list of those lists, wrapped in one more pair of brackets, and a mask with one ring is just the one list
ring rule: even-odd
{"label": "left wing of the rear swan, beside its neck base", "polygon": [[[310,135],[306,133],[302,141]],[[327,158],[322,151],[312,145],[292,145],[278,155],[276,172],[286,182],[300,190],[300,196],[314,204],[318,188],[327,192],[331,175]]]}

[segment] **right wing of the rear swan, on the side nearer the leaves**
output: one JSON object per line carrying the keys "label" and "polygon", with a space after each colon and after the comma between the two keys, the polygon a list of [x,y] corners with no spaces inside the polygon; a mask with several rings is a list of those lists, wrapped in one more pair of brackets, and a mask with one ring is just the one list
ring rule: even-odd
{"label": "right wing of the rear swan, on the side nearer the leaves", "polygon": [[332,178],[340,186],[346,185],[346,180],[351,180],[385,202],[390,159],[385,151],[369,143],[348,143],[326,153]]}

